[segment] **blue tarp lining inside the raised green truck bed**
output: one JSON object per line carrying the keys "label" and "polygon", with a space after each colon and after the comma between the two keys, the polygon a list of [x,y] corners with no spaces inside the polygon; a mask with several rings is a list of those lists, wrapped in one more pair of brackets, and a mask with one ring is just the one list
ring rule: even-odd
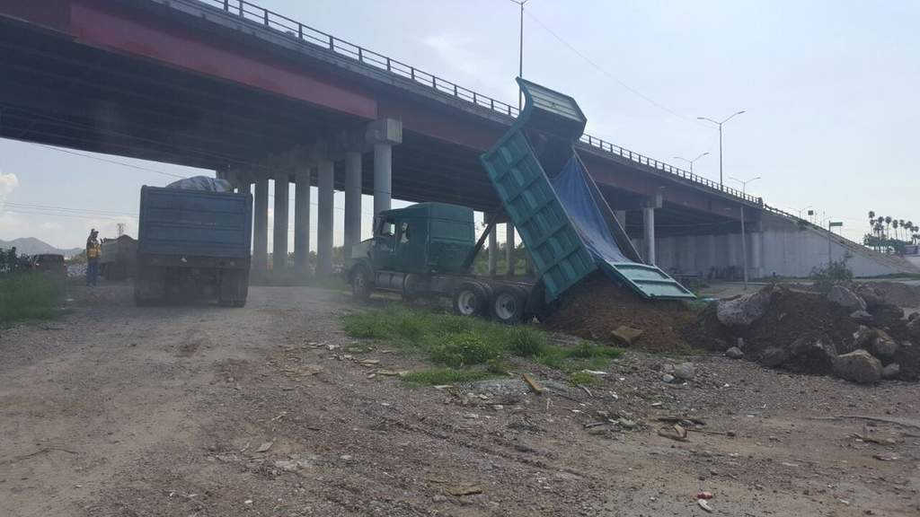
{"label": "blue tarp lining inside the raised green truck bed", "polygon": [[565,207],[566,213],[575,225],[575,230],[588,247],[594,259],[602,259],[607,262],[632,262],[627,259],[620,247],[616,246],[610,227],[604,220],[597,203],[593,202],[591,190],[584,178],[584,167],[581,167],[581,161],[572,156],[566,167],[556,178],[549,178],[553,184],[553,190],[562,206]]}

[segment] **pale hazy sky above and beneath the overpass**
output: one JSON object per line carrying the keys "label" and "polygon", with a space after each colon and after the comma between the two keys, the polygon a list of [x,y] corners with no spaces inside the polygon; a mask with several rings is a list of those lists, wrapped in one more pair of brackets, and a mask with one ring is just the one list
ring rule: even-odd
{"label": "pale hazy sky above and beneath the overpass", "polygon": [[[255,3],[516,102],[510,0]],[[760,177],[747,190],[768,204],[811,207],[816,222],[842,221],[845,236],[861,239],[869,210],[920,222],[917,19],[920,2],[906,0],[530,0],[523,75],[576,98],[594,136],[678,166],[673,156],[710,153],[695,172],[716,180],[718,132],[696,117],[744,109],[724,126],[726,184]],[[78,247],[90,227],[114,236],[117,223],[135,235],[141,185],[202,172],[0,140],[0,239]],[[337,193],[337,244],[342,202]]]}

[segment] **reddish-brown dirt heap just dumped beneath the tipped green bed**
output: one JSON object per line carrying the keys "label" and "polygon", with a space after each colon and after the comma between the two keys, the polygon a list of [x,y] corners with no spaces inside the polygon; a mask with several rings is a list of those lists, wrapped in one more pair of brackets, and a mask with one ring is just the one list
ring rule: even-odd
{"label": "reddish-brown dirt heap just dumped beneath the tipped green bed", "polygon": [[695,316],[682,302],[644,299],[598,272],[566,293],[545,324],[559,332],[616,344],[623,343],[614,331],[631,327],[642,331],[637,347],[670,351],[686,346],[681,330]]}

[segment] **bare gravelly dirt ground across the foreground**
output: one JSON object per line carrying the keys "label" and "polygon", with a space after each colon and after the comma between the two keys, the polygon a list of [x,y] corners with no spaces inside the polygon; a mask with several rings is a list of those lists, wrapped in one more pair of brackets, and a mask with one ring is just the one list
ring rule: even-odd
{"label": "bare gravelly dirt ground across the foreground", "polygon": [[[589,390],[408,388],[386,370],[411,358],[343,357],[340,316],[360,309],[340,293],[75,296],[60,321],[0,330],[2,515],[684,516],[708,514],[702,490],[715,515],[920,514],[917,385],[702,356],[665,385],[668,359],[629,352]],[[856,414],[908,425],[812,419]],[[706,426],[674,441],[668,415]]]}

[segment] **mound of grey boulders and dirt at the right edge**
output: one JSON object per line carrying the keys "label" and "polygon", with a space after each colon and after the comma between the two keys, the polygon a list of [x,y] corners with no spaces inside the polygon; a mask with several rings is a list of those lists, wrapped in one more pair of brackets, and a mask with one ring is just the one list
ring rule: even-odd
{"label": "mound of grey boulders and dirt at the right edge", "polygon": [[828,293],[767,286],[719,302],[684,336],[733,359],[861,384],[920,375],[920,347],[913,344],[920,342],[920,315],[904,319],[902,309],[865,284],[835,285]]}

